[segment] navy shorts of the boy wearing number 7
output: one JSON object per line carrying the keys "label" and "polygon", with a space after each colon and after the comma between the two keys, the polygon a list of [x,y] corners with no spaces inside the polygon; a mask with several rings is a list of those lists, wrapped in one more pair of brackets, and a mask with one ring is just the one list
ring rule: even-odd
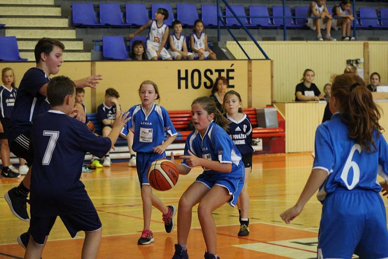
{"label": "navy shorts of the boy wearing number 7", "polygon": [[[93,232],[101,228],[101,221],[96,209],[86,210],[76,214],[58,215],[64,223],[70,236],[74,238],[78,231]],[[57,216],[38,217],[31,215],[28,233],[37,244],[44,244],[54,226]]]}

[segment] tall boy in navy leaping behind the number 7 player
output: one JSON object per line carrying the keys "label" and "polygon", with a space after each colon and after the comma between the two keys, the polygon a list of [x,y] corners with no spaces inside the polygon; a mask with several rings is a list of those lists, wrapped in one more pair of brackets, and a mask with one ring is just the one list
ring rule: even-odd
{"label": "tall boy in navy leaping behind the number 7 player", "polygon": [[[31,141],[32,121],[42,113],[50,110],[47,100],[47,85],[50,75],[58,74],[63,63],[62,51],[65,46],[58,40],[42,38],[35,46],[36,67],[32,67],[24,74],[20,81],[14,110],[9,123],[8,143],[10,150],[19,158],[24,158],[32,164],[33,143]],[[93,75],[74,81],[77,88],[94,87],[101,75]],[[77,119],[85,121],[82,106],[75,105],[79,110]],[[61,162],[63,163],[63,162]],[[27,213],[27,195],[30,192],[31,168],[19,186],[4,194],[12,213],[19,219],[29,221]]]}

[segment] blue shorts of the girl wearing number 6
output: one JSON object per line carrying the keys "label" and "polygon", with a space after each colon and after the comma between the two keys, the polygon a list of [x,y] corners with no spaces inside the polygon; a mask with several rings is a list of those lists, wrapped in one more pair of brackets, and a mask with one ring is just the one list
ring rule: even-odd
{"label": "blue shorts of the girl wearing number 6", "polygon": [[388,257],[386,210],[379,193],[338,189],[323,202],[318,259]]}

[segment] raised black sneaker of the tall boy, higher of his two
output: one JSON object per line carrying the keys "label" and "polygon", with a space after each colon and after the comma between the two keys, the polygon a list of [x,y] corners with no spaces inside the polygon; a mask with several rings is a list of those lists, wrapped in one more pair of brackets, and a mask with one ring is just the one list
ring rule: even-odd
{"label": "raised black sneaker of the tall boy, higher of his two", "polygon": [[12,188],[4,194],[4,199],[8,203],[9,208],[16,218],[23,221],[29,221],[30,217],[27,213],[27,195],[16,193],[17,187]]}

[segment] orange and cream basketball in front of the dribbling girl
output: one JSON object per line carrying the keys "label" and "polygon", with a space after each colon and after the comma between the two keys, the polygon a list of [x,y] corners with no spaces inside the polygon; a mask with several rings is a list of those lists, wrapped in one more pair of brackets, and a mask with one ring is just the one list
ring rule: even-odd
{"label": "orange and cream basketball in front of the dribbling girl", "polygon": [[148,167],[147,179],[155,190],[170,190],[177,184],[178,168],[175,163],[167,159],[154,161]]}

